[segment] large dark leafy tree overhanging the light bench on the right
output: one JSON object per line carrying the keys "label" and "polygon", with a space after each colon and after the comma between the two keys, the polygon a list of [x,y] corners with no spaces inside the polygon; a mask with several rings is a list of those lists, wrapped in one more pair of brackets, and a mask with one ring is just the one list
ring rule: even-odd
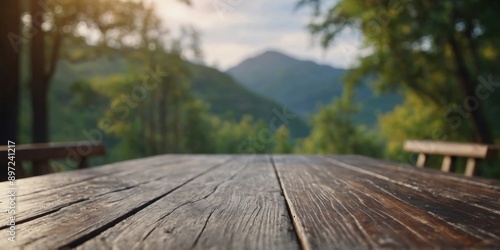
{"label": "large dark leafy tree overhanging the light bench on the right", "polygon": [[[341,0],[326,8],[320,0],[310,24],[326,48],[346,28],[363,35],[360,64],[351,81],[376,75],[381,90],[416,93],[431,105],[449,107],[444,119],[468,118],[475,140],[492,143],[485,100],[476,92],[481,77],[498,65],[500,4],[491,1]],[[494,75],[497,76],[497,75]],[[454,105],[455,104],[455,105]]]}

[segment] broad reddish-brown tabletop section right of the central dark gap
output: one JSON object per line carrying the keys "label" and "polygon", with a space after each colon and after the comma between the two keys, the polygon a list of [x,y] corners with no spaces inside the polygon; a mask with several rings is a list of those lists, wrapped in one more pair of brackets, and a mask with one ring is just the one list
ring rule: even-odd
{"label": "broad reddish-brown tabletop section right of the central dark gap", "polygon": [[305,249],[500,246],[493,212],[318,156],[274,160]]}

